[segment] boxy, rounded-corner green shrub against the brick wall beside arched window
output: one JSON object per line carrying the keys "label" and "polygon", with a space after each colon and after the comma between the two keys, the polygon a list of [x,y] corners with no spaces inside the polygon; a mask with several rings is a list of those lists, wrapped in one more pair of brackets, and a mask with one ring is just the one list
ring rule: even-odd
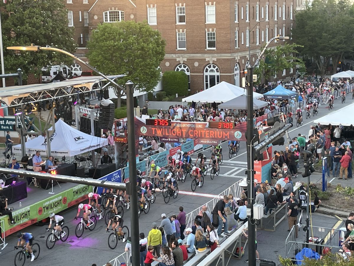
{"label": "boxy, rounded-corner green shrub against the brick wall beside arched window", "polygon": [[188,93],[188,77],[183,71],[165,71],[162,76],[162,90],[170,95],[186,95]]}

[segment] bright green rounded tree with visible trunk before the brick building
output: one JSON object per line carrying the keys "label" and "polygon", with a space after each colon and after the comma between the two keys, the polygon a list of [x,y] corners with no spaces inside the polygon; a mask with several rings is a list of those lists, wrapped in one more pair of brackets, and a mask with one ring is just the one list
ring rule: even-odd
{"label": "bright green rounded tree with visible trunk before the brick building", "polygon": [[[103,23],[92,31],[87,58],[102,73],[125,74],[117,81],[122,87],[131,80],[134,89],[150,92],[160,81],[165,45],[160,32],[146,22]],[[117,89],[116,93],[119,106],[123,92]]]}

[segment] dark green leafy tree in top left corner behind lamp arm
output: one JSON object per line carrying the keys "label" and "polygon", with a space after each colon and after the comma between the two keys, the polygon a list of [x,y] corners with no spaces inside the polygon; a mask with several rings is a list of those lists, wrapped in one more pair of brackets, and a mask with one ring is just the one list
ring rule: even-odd
{"label": "dark green leafy tree in top left corner behind lamp arm", "polygon": [[6,73],[22,69],[24,79],[28,73],[36,75],[48,65],[66,64],[73,60],[55,52],[28,52],[7,50],[7,46],[30,45],[52,46],[75,52],[74,29],[68,27],[68,15],[62,0],[0,1],[4,67]]}

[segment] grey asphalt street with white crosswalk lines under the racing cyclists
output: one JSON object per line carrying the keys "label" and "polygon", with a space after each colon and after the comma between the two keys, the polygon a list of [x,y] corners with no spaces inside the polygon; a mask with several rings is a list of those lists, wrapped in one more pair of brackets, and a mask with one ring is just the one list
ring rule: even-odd
{"label": "grey asphalt street with white crosswalk lines under the racing cyclists", "polygon": [[[352,103],[352,99],[347,97],[347,102],[341,104],[339,100],[335,100],[335,108],[331,111],[338,110],[338,108],[347,106]],[[328,114],[327,105],[322,105],[319,108],[318,116],[321,117]],[[298,133],[307,135],[309,126],[313,124],[314,118],[311,117],[308,120],[304,117],[303,126],[296,128],[296,125],[289,130],[290,137],[295,137]],[[204,195],[196,195],[191,192],[191,179],[187,179],[185,183],[179,184],[180,193],[177,199],[171,199],[169,204],[165,204],[162,195],[157,196],[156,201],[152,204],[150,212],[148,214],[142,214],[139,218],[140,232],[148,234],[151,224],[153,222],[161,222],[161,214],[166,213],[167,216],[178,214],[178,207],[183,206],[185,212],[190,212],[202,204],[209,201],[213,196],[221,193],[227,189],[230,185],[237,182],[241,178],[245,177],[246,170],[246,145],[241,143],[240,151],[237,156],[232,159],[227,157],[227,143],[223,145],[224,150],[224,162],[220,168],[220,176],[215,177],[214,180],[210,179],[209,174],[205,177],[205,184],[202,188],[197,188],[196,193],[203,193]],[[284,147],[275,146],[273,149],[283,149]],[[205,150],[204,154],[209,157],[210,149]],[[196,155],[192,156],[194,159]],[[301,181],[301,177],[299,180]],[[90,266],[92,263],[96,263],[98,266],[105,264],[112,260],[114,257],[124,252],[125,243],[118,243],[115,250],[111,250],[108,247],[107,239],[108,233],[105,232],[105,223],[103,220],[98,221],[98,224],[94,231],[85,231],[83,236],[78,239],[75,236],[75,227],[79,221],[75,221],[73,218],[76,215],[77,209],[68,209],[61,213],[64,216],[65,223],[70,229],[69,238],[67,242],[57,242],[53,249],[48,250],[45,245],[46,237],[49,233],[45,232],[45,226],[30,226],[25,229],[25,232],[33,233],[35,236],[35,242],[38,242],[41,247],[39,258],[33,263],[33,265],[47,266],[49,264],[55,264],[56,266],[67,266],[68,263],[83,264]],[[124,213],[124,225],[130,228],[130,211]],[[325,216],[321,214],[313,214],[313,225],[325,224],[326,227],[332,227],[337,218]],[[270,260],[277,260],[278,255],[285,255],[284,245],[285,239],[288,234],[287,221],[282,221],[276,232],[257,231],[258,251],[261,254],[261,258]],[[13,265],[16,251],[13,250],[13,246],[17,244],[15,236],[11,235],[6,237],[7,247],[1,250],[0,261],[6,262],[5,265]],[[247,259],[247,248],[245,251],[244,259]],[[231,260],[229,265],[246,265],[244,259],[241,261]],[[30,264],[30,262],[26,262]],[[2,265],[2,263],[1,263]]]}

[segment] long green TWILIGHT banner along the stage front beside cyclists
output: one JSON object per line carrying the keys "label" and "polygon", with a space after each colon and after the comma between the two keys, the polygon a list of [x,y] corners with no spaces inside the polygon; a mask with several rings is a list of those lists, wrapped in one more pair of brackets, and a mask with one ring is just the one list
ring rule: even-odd
{"label": "long green TWILIGHT banner along the stage front beside cyclists", "polygon": [[[12,212],[15,225],[10,225],[8,215],[1,216],[0,221],[5,224],[5,236],[21,231],[23,228],[33,225],[54,212],[58,213],[87,199],[87,194],[93,191],[89,185],[76,185],[56,195],[40,200],[30,206]],[[1,232],[4,233],[4,232]]]}

